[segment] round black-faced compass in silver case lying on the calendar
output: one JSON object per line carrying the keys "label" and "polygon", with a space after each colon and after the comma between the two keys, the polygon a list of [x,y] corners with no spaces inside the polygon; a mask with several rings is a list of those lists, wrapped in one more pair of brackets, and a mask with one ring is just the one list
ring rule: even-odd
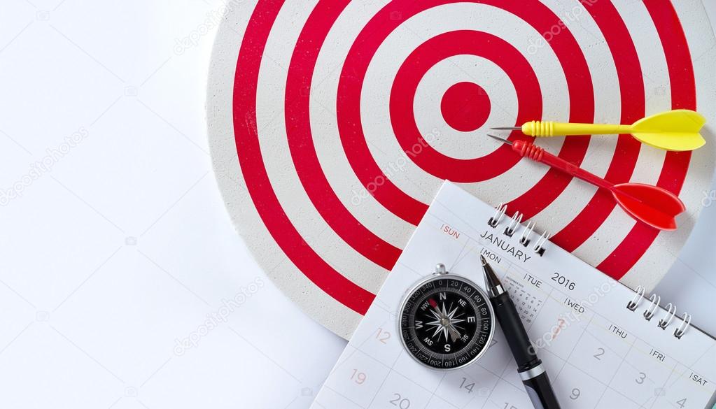
{"label": "round black-faced compass in silver case lying on the calendar", "polygon": [[435,274],[407,293],[399,325],[412,358],[430,368],[455,369],[485,353],[495,332],[495,315],[480,287],[439,264]]}

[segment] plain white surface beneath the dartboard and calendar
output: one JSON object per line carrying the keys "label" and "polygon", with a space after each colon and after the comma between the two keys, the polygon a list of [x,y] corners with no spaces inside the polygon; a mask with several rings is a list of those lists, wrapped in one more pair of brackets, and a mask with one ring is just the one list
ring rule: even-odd
{"label": "plain white surface beneath the dartboard and calendar", "polygon": [[[223,207],[204,121],[220,6],[1,1],[0,189],[18,197],[0,193],[0,407],[307,408],[341,352]],[[657,288],[714,334],[715,229],[707,207]]]}

